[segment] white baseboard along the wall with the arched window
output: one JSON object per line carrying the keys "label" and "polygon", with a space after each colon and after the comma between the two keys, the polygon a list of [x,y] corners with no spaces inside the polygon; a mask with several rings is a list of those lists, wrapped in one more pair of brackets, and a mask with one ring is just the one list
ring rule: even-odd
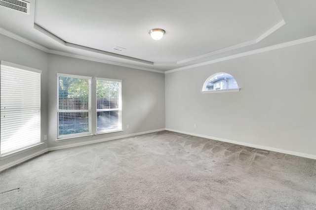
{"label": "white baseboard along the wall with the arched window", "polygon": [[284,154],[291,154],[291,155],[295,155],[295,156],[299,156],[299,157],[316,159],[316,155],[314,155],[314,154],[307,154],[307,153],[291,151],[291,150],[281,150],[281,149],[272,148],[272,147],[248,144],[248,143],[238,142],[238,141],[234,141],[234,140],[222,139],[222,138],[217,138],[217,137],[213,137],[213,136],[201,135],[201,134],[197,134],[197,133],[190,133],[190,132],[185,132],[185,131],[181,131],[181,130],[174,130],[174,129],[169,129],[169,128],[166,128],[165,130],[173,131],[173,132],[177,132],[177,133],[188,134],[188,135],[192,135],[192,136],[198,136],[198,137],[202,137],[202,138],[206,138],[206,139],[213,139],[213,140],[217,140],[217,141],[221,141],[221,142],[232,143],[232,144],[236,144],[236,145],[257,148],[257,149],[261,149],[261,150],[276,151],[276,152],[280,152],[280,153],[284,153]]}

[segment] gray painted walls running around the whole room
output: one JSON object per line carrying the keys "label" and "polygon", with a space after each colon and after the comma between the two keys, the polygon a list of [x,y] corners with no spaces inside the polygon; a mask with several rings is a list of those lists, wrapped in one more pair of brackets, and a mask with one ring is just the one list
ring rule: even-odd
{"label": "gray painted walls running around the whole room", "polygon": [[[48,140],[40,148],[2,159],[0,166],[47,147],[164,127],[316,155],[315,58],[314,41],[164,75],[47,54],[0,34],[0,60],[42,70],[41,140],[48,134]],[[121,79],[124,131],[55,142],[57,72]],[[202,94],[205,80],[217,72],[233,75],[241,90]],[[301,77],[305,79],[299,86]],[[95,123],[95,118],[92,122]],[[126,129],[126,125],[130,129]]]}

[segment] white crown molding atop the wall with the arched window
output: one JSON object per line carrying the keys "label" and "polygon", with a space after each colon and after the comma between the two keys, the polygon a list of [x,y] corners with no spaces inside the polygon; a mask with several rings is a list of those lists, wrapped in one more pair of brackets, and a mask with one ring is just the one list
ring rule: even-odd
{"label": "white crown molding atop the wall with the arched window", "polygon": [[269,46],[269,47],[264,47],[261,49],[257,49],[257,50],[251,50],[248,52],[244,52],[244,53],[239,53],[236,55],[232,55],[232,56],[227,56],[227,57],[223,57],[220,59],[215,59],[215,60],[209,60],[206,62],[201,62],[201,63],[197,63],[197,64],[193,64],[193,65],[188,65],[188,66],[184,66],[181,68],[175,68],[169,71],[165,71],[165,74],[168,73],[172,73],[175,71],[181,71],[181,70],[185,70],[185,69],[190,69],[190,68],[194,68],[194,67],[199,67],[199,66],[203,66],[203,65],[208,65],[208,64],[212,64],[212,63],[217,63],[217,62],[221,62],[221,61],[225,61],[225,60],[231,60],[231,59],[236,59],[236,58],[240,58],[240,57],[245,57],[245,56],[250,56],[250,55],[254,55],[254,54],[258,54],[258,53],[263,53],[263,52],[268,52],[268,51],[272,51],[272,50],[276,50],[276,49],[280,49],[280,48],[284,48],[284,47],[290,47],[290,46],[294,46],[294,45],[298,45],[298,44],[303,44],[306,42],[311,42],[311,41],[316,41],[316,36],[310,36],[310,37],[306,37],[306,38],[302,38],[302,39],[297,39],[294,41],[289,41],[289,42],[284,42],[281,44],[276,44],[273,46]]}

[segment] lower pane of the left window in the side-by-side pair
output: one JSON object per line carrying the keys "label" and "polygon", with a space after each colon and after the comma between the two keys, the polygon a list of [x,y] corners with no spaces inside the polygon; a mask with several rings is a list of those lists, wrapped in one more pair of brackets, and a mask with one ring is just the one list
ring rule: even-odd
{"label": "lower pane of the left window in the side-by-side pair", "polygon": [[58,122],[59,136],[89,132],[88,112],[59,113]]}

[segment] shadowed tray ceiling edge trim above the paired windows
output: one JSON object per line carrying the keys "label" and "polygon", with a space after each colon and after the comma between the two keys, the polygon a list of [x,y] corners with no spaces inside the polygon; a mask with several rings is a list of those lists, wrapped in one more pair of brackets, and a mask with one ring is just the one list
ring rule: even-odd
{"label": "shadowed tray ceiling edge trim above the paired windows", "polygon": [[49,32],[48,30],[45,30],[44,28],[40,27],[36,23],[34,23],[34,29],[42,32],[46,36],[54,39],[55,41],[59,42],[60,44],[66,46],[66,47],[76,48],[76,49],[79,49],[79,50],[89,51],[89,52],[98,53],[98,54],[107,55],[107,56],[113,56],[113,57],[120,58],[120,59],[133,60],[133,61],[136,61],[136,62],[142,62],[142,63],[154,65],[154,62],[152,62],[152,61],[136,59],[136,58],[132,58],[132,57],[129,57],[129,56],[123,56],[123,55],[119,55],[119,54],[116,54],[116,53],[111,53],[111,52],[107,52],[107,51],[103,51],[103,50],[97,50],[97,49],[94,49],[94,48],[85,47],[85,46],[82,46],[82,45],[66,42],[63,39],[59,38],[58,36],[54,35],[53,33]]}

